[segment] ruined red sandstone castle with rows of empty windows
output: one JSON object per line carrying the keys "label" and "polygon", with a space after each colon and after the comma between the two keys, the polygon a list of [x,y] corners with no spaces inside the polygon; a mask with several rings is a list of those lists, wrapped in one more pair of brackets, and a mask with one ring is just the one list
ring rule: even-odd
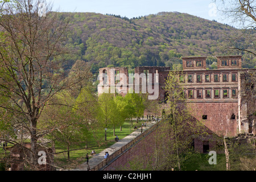
{"label": "ruined red sandstone castle with rows of empty windows", "polygon": [[[187,102],[193,107],[193,117],[204,123],[213,133],[234,137],[240,133],[255,135],[255,95],[247,98],[247,91],[254,90],[250,84],[250,75],[255,69],[242,69],[241,56],[217,56],[217,69],[207,69],[207,57],[183,57],[183,71],[180,79],[184,85]],[[114,71],[111,71],[111,69]],[[110,73],[111,72],[111,73]],[[152,87],[158,86],[159,100],[164,100],[163,89],[168,77],[168,67],[137,67],[134,73],[152,75]],[[117,92],[126,94],[135,83],[119,77],[119,73],[129,76],[127,68],[101,68],[101,84],[109,88],[120,84]],[[112,79],[112,80],[111,80]],[[249,83],[249,84],[248,84]],[[142,85],[141,85],[142,86]],[[98,86],[98,90],[101,86]],[[204,143],[204,142],[203,142]]]}

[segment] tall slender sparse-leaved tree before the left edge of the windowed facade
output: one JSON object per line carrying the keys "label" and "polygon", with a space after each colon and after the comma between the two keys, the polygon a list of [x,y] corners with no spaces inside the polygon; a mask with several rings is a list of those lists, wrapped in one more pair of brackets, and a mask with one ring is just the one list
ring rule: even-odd
{"label": "tall slender sparse-leaved tree before the left edge of the windowed facade", "polygon": [[183,83],[179,81],[182,75],[180,68],[170,71],[166,80],[167,109],[164,122],[168,137],[168,154],[164,162],[164,168],[177,167],[181,170],[181,164],[192,154],[191,143],[197,136],[205,135],[203,123],[192,118],[192,110],[186,104]]}

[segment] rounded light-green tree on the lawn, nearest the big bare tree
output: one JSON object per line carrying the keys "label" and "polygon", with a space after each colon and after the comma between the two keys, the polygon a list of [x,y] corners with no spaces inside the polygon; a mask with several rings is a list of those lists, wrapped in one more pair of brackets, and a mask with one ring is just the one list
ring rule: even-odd
{"label": "rounded light-green tree on the lawn, nearest the big bare tree", "polygon": [[68,160],[71,147],[78,147],[90,138],[86,122],[73,109],[75,98],[68,92],[60,92],[46,104],[39,119],[38,128],[47,132],[46,138],[67,148]]}

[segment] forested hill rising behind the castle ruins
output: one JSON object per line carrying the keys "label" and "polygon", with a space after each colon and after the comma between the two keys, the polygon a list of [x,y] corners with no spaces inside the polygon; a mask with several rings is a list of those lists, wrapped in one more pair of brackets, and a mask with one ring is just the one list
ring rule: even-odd
{"label": "forested hill rising behind the castle ruins", "polygon": [[[68,16],[71,20],[65,46],[74,54],[65,57],[65,67],[84,60],[92,63],[93,72],[107,66],[172,66],[180,63],[181,56],[223,55],[226,36],[237,31],[214,20],[177,12],[133,19],[96,13],[59,13],[60,19]],[[247,61],[245,67],[254,65]]]}

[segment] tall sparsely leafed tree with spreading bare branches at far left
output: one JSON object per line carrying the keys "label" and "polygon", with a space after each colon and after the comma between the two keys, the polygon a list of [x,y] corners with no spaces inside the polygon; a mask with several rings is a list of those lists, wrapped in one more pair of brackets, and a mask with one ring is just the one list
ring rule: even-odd
{"label": "tall sparsely leafed tree with spreading bare branches at far left", "polygon": [[24,163],[32,169],[38,169],[38,142],[44,134],[38,131],[38,120],[44,106],[73,84],[63,81],[64,70],[57,59],[64,53],[60,42],[68,22],[59,22],[57,14],[50,14],[46,2],[46,16],[41,16],[40,2],[44,1],[6,1],[1,7],[6,12],[0,19],[0,65],[9,79],[0,77],[0,93],[9,99],[0,107],[13,116],[13,126],[22,126],[29,135],[30,159]]}

